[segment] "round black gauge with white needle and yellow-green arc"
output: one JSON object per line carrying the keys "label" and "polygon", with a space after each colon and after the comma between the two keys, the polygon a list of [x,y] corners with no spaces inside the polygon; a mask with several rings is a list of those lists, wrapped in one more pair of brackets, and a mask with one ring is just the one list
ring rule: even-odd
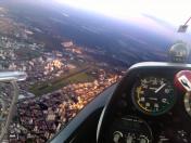
{"label": "round black gauge with white needle and yellow-green arc", "polygon": [[132,101],[136,107],[149,115],[162,115],[175,104],[176,93],[171,82],[161,77],[145,77],[135,83]]}

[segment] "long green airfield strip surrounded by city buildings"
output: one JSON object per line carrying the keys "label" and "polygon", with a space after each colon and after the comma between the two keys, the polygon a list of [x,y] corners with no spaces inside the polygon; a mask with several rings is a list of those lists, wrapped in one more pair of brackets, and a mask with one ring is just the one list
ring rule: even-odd
{"label": "long green airfield strip surrounded by city buildings", "polygon": [[91,75],[87,74],[86,70],[87,69],[82,69],[80,72],[76,72],[71,75],[60,77],[58,79],[35,84],[29,89],[29,91],[35,95],[42,95],[59,90],[64,86],[67,86],[68,83],[92,81],[94,78]]}

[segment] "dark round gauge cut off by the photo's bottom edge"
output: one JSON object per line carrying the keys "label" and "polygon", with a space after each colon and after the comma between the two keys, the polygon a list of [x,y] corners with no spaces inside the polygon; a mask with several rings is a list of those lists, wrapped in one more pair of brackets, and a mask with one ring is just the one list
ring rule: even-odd
{"label": "dark round gauge cut off by the photo's bottom edge", "polygon": [[113,122],[107,139],[110,143],[151,143],[153,135],[144,120],[135,116],[125,116]]}

